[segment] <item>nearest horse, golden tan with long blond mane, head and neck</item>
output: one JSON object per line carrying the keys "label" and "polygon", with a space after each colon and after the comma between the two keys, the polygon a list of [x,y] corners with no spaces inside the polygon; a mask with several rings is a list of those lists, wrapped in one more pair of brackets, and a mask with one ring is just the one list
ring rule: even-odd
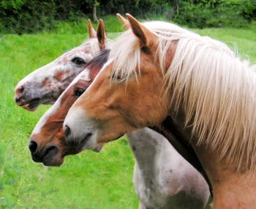
{"label": "nearest horse, golden tan with long blond mane, head and neck", "polygon": [[67,143],[94,149],[171,116],[213,185],[213,207],[255,208],[255,72],[222,42],[127,18],[131,29],[66,116]]}

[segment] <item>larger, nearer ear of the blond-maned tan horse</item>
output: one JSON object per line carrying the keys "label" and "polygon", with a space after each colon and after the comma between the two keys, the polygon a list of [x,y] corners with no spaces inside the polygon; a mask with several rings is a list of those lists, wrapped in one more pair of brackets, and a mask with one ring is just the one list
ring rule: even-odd
{"label": "larger, nearer ear of the blond-maned tan horse", "polygon": [[126,14],[131,30],[134,32],[134,35],[140,40],[143,47],[152,47],[157,42],[157,36],[151,33],[148,29],[140,24],[134,17]]}

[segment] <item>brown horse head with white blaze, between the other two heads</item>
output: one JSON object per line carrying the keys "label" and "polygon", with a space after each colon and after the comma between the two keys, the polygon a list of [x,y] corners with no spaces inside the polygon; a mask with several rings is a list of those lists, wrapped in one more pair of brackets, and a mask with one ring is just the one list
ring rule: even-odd
{"label": "brown horse head with white blaze, between the other two heads", "polygon": [[[34,162],[43,162],[47,166],[60,166],[66,155],[80,153],[78,148],[66,144],[63,132],[64,118],[73,102],[93,82],[107,57],[108,50],[102,51],[99,56],[89,61],[83,72],[80,72],[55,104],[38,121],[29,139],[29,150]],[[99,152],[102,146],[103,144],[99,144],[94,151]]]}

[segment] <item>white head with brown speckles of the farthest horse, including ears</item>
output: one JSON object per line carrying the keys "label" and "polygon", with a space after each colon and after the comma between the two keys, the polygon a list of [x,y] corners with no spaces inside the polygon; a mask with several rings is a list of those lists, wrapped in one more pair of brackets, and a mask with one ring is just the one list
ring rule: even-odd
{"label": "white head with brown speckles of the farthest horse, including ears", "polygon": [[85,69],[85,64],[101,49],[108,49],[112,41],[105,35],[104,23],[99,21],[97,32],[88,20],[90,39],[59,56],[48,65],[24,77],[15,87],[15,103],[29,111],[40,104],[53,104],[73,79]]}

